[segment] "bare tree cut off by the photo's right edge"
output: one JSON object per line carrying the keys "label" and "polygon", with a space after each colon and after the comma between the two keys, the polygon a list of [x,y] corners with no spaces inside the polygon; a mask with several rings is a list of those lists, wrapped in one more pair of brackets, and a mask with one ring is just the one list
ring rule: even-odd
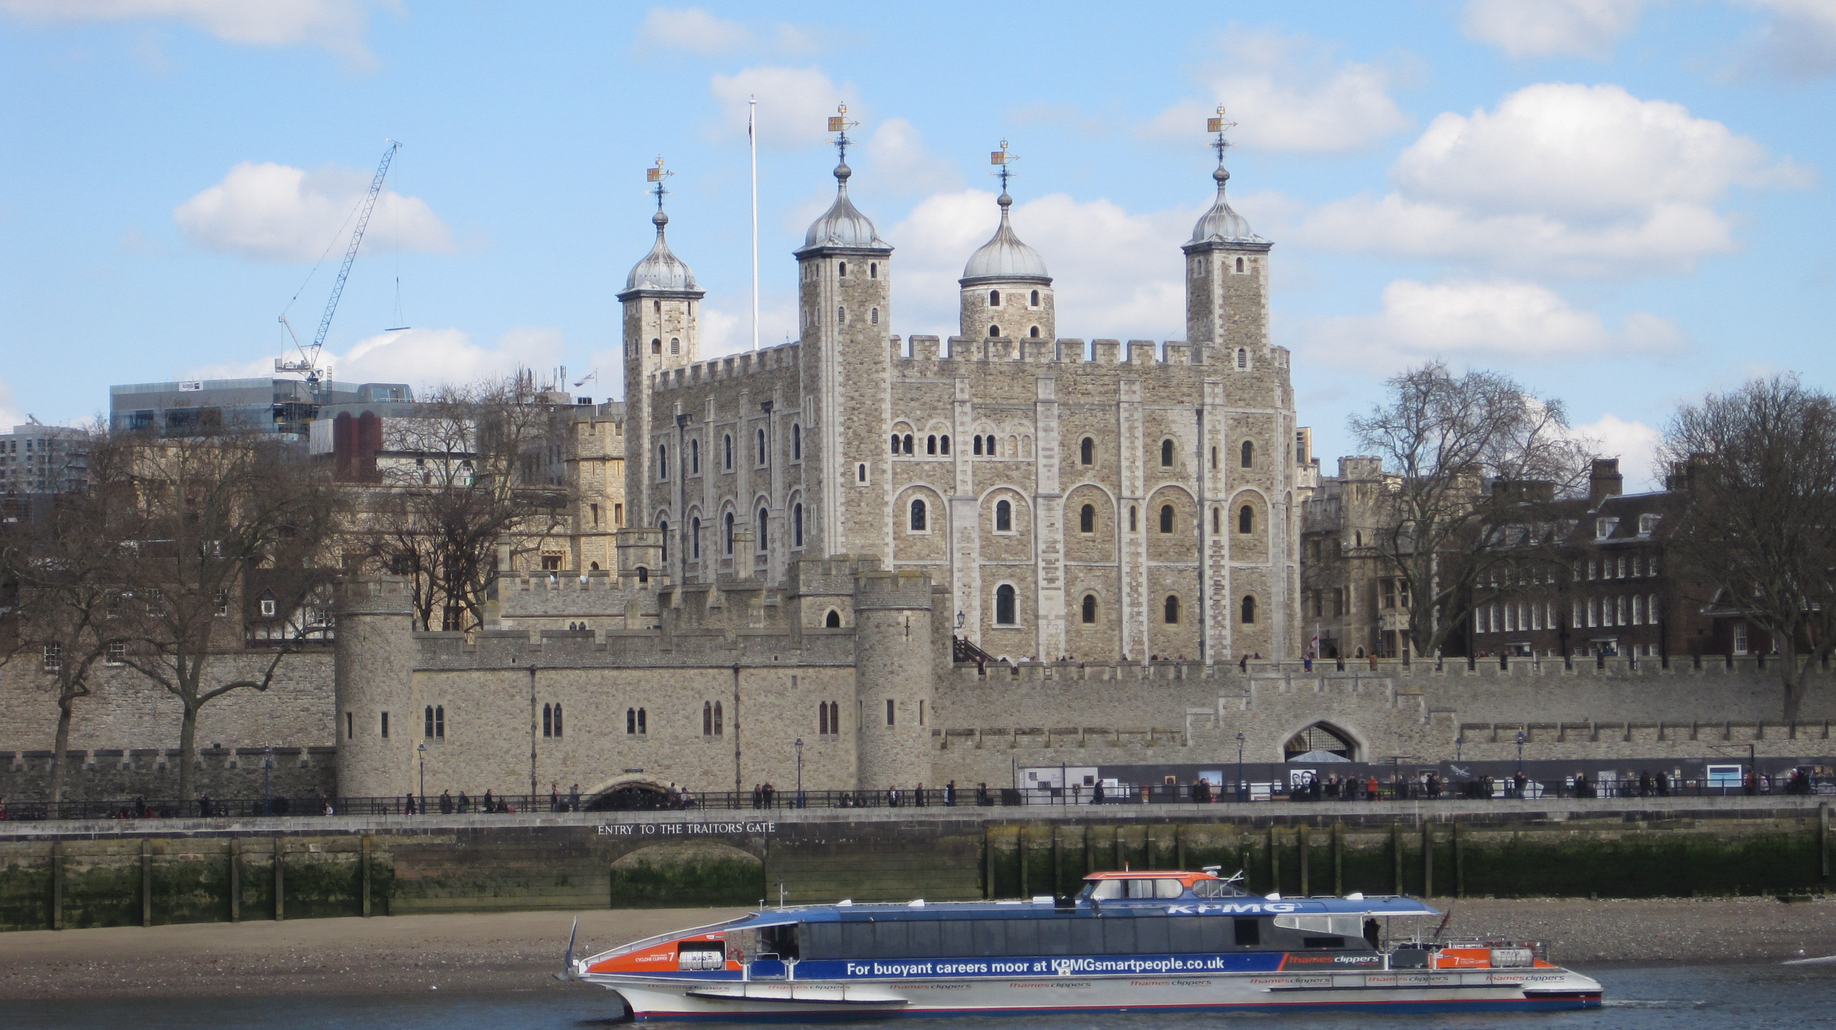
{"label": "bare tree cut off by the photo's right edge", "polygon": [[1662,453],[1678,498],[1665,547],[1772,637],[1796,720],[1836,643],[1836,400],[1796,376],[1752,380],[1678,408]]}

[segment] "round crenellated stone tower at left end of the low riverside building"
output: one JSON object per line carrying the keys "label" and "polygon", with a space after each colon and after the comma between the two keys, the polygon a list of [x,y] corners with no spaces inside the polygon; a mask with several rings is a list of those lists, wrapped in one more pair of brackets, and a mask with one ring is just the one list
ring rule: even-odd
{"label": "round crenellated stone tower at left end of the low riverside building", "polygon": [[338,584],[338,793],[413,791],[420,712],[413,692],[413,621],[398,577]]}

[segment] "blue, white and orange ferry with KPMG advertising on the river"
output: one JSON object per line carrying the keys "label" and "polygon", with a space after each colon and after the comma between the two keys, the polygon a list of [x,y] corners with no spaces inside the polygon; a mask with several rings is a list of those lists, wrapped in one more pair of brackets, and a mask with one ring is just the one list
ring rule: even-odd
{"label": "blue, white and orange ferry with KPMG advertising on the river", "polygon": [[1535,946],[1423,940],[1412,898],[1258,898],[1206,872],[1098,872],[1070,900],[766,909],[573,958],[635,1019],[1597,1008]]}

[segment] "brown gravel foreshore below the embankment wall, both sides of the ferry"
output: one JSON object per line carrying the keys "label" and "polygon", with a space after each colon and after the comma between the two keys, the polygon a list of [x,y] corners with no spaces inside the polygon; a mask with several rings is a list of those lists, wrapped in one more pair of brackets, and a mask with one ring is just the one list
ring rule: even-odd
{"label": "brown gravel foreshore below the embankment wall, both sides of the ferry", "polygon": [[[1557,962],[1577,968],[1836,955],[1836,900],[1432,903],[1452,911],[1449,936],[1546,940]],[[738,912],[578,912],[578,947],[602,949]],[[551,977],[573,918],[492,912],[7,933],[0,935],[0,999],[578,990]]]}

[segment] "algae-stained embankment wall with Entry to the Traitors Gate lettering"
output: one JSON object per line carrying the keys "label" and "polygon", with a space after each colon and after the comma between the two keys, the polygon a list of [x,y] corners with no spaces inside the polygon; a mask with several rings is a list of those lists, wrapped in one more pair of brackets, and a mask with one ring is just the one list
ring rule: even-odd
{"label": "algae-stained embankment wall with Entry to the Traitors Gate lettering", "polygon": [[1256,892],[1819,894],[1818,797],[173,819],[0,824],[0,929],[1065,894],[1103,868]]}

